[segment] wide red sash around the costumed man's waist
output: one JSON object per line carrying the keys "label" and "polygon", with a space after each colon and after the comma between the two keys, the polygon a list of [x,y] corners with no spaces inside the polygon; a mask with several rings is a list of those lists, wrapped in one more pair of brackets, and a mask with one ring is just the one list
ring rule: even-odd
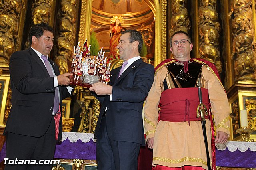
{"label": "wide red sash around the costumed man's waist", "polygon": [[[211,107],[208,89],[201,88],[203,103],[209,109]],[[159,103],[159,116],[162,121],[185,122],[200,121],[196,118],[196,109],[199,105],[198,88],[174,88],[162,92]],[[205,117],[209,119],[209,115]]]}

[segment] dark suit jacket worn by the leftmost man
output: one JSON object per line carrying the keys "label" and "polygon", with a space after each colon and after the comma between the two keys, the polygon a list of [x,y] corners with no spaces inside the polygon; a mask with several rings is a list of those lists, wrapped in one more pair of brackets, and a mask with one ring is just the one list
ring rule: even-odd
{"label": "dark suit jacket worn by the leftmost man", "polygon": [[[50,60],[55,75],[60,75],[58,65]],[[53,77],[33,49],[16,51],[10,58],[12,107],[6,123],[6,132],[40,137],[48,129],[54,105]],[[66,87],[59,86],[60,108],[62,99],[70,96]],[[62,109],[60,109],[62,111]],[[62,113],[61,113],[62,114]],[[62,135],[60,118],[58,140]]]}

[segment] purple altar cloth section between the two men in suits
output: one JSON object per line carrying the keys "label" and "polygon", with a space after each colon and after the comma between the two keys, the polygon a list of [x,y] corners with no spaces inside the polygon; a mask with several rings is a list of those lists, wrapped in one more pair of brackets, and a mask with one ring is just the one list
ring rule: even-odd
{"label": "purple altar cloth section between the two men in suits", "polygon": [[68,139],[56,142],[54,158],[96,160],[96,142],[83,143],[80,139],[76,143]]}

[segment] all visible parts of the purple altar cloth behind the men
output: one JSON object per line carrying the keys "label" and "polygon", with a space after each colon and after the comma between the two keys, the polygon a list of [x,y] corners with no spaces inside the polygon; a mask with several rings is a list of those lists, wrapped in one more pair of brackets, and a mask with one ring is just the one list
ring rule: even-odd
{"label": "all visible parts of the purple altar cloth behind the men", "polygon": [[[0,152],[0,162],[4,160],[5,155],[6,143],[4,143]],[[77,140],[76,143],[72,143],[68,139],[63,142],[56,142],[54,158],[96,160],[96,142],[90,140],[87,143],[83,143],[81,140]],[[228,148],[224,151],[216,148],[216,166],[256,168],[256,152],[252,152],[249,149],[245,152],[240,152],[239,150],[230,152]]]}

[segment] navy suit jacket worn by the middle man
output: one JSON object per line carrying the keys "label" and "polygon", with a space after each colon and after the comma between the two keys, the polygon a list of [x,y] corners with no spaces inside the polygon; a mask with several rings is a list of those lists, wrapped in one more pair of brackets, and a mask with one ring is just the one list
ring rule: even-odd
{"label": "navy suit jacket worn by the middle man", "polygon": [[144,145],[142,123],[143,103],[154,81],[154,67],[138,59],[117,79],[121,67],[111,71],[112,101],[110,95],[97,96],[102,106],[95,129],[97,137],[102,115],[107,107],[107,132],[111,140]]}

